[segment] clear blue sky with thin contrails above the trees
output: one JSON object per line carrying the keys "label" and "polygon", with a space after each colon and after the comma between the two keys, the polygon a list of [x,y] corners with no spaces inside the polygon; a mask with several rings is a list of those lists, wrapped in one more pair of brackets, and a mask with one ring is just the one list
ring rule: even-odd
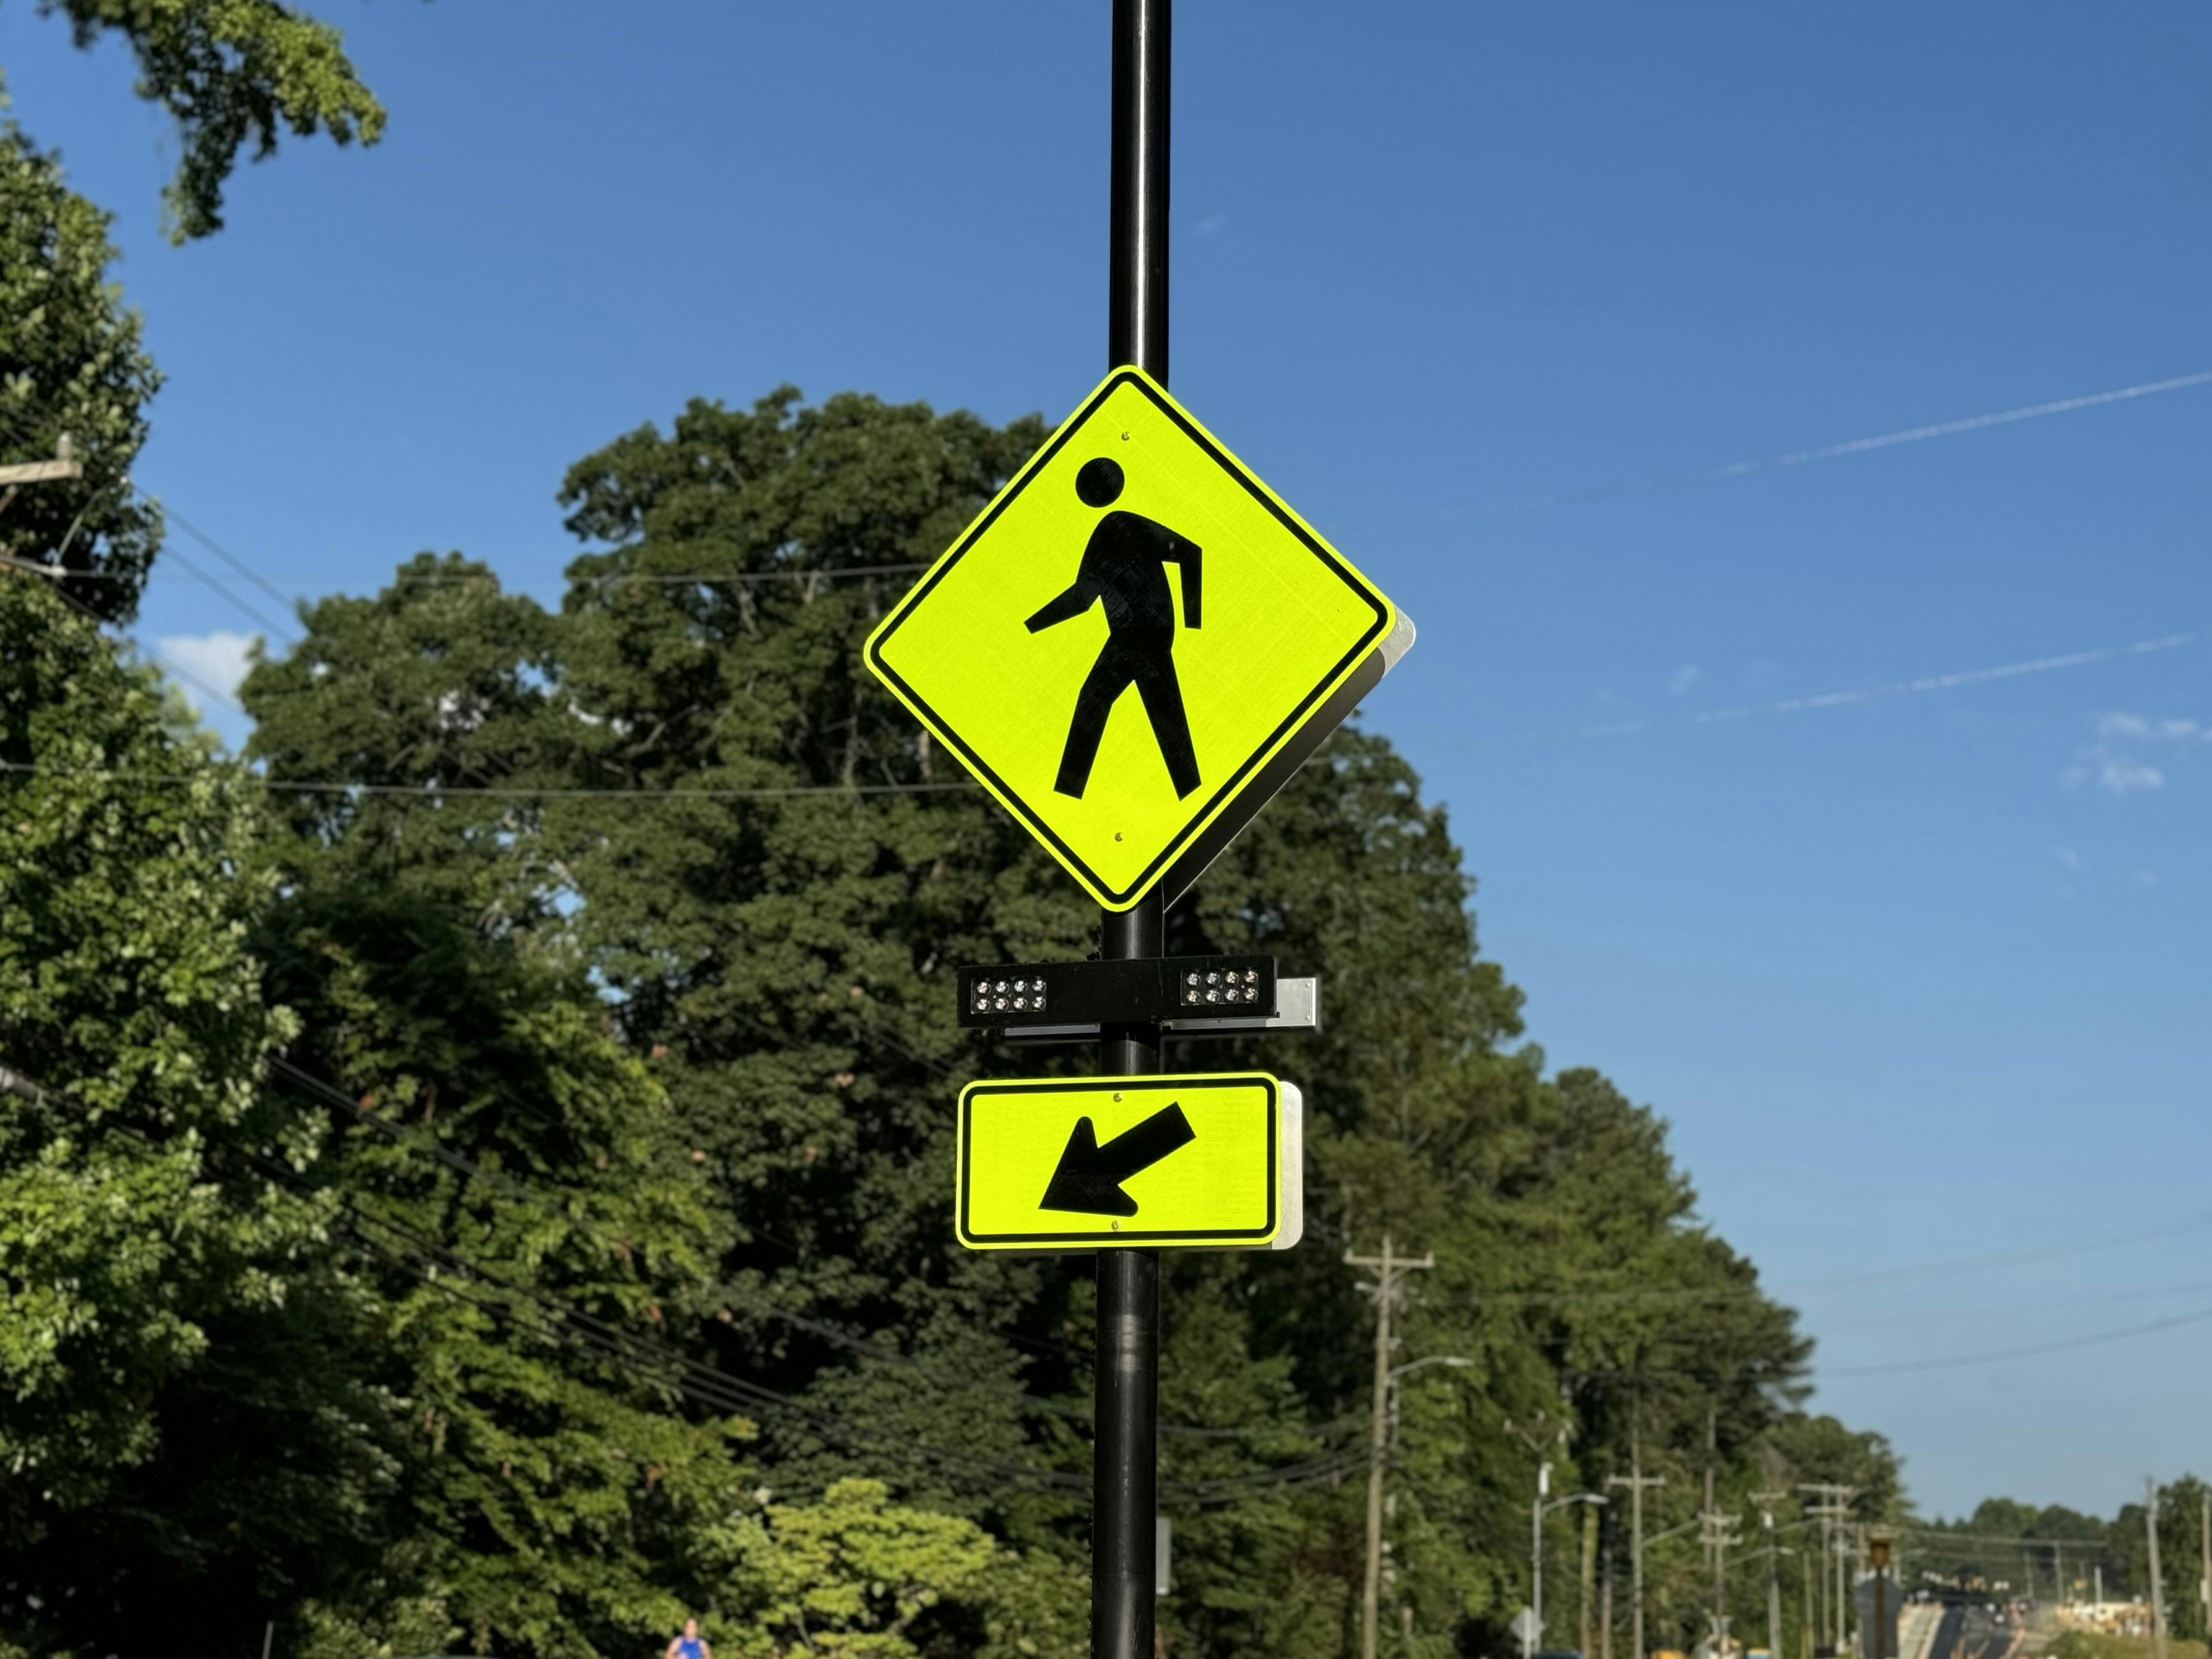
{"label": "clear blue sky with thin contrails above the trees", "polygon": [[[170,376],[139,480],[285,593],[551,599],[562,469],[695,394],[1104,369],[1104,0],[321,9],[387,142],[186,250],[128,62],[0,11]],[[2212,11],[1186,2],[1175,122],[1177,394],[1420,622],[1369,721],[1553,1062],[1922,1506],[2212,1464],[2212,1323],[1849,1374],[2212,1307],[2212,641],[1772,708],[2212,628],[2212,385],[1575,495],[2212,369]],[[139,635],[252,630],[168,564]]]}

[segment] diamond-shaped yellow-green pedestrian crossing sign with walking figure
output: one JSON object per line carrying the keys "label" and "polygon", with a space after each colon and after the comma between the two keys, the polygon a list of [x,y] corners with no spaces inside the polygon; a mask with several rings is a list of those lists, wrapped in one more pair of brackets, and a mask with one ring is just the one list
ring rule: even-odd
{"label": "diamond-shaped yellow-green pedestrian crossing sign with walking figure", "polygon": [[[1219,852],[1349,712],[1391,602],[1135,367],[867,641],[869,670],[1106,909]],[[1367,666],[1367,679],[1360,679]]]}

